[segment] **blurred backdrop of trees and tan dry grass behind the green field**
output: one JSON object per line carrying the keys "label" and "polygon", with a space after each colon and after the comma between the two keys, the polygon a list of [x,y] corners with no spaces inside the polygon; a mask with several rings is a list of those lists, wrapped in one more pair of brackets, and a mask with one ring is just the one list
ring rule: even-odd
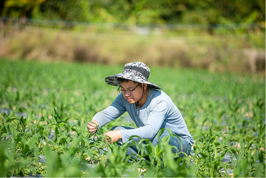
{"label": "blurred backdrop of trees and tan dry grass behind the green field", "polygon": [[0,57],[265,75],[265,0],[1,0]]}

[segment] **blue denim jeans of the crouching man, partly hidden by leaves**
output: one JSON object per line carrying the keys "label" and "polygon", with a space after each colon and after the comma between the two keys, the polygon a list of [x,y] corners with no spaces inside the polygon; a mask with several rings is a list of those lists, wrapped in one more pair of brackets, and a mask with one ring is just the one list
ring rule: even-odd
{"label": "blue denim jeans of the crouching man, partly hidden by leaves", "polygon": [[[114,126],[113,128],[111,128],[111,130],[125,130],[125,129],[128,130],[128,129],[134,129],[134,128],[125,127],[125,126]],[[161,141],[161,139],[163,137],[168,136],[168,135],[170,135],[168,130],[164,130],[164,132],[160,136],[159,140]],[[190,151],[191,151],[191,145],[189,144],[189,142],[187,140],[183,139],[182,137],[180,137],[180,139],[181,139],[181,142],[182,142],[182,148],[181,148],[181,142],[176,136],[174,136],[174,139],[170,136],[169,144],[171,146],[175,146],[176,148],[178,148],[178,152],[180,152],[182,150],[183,152],[187,153],[187,155],[189,155]],[[156,145],[159,143],[159,140],[158,140],[157,135],[155,135],[155,137],[151,140],[151,143],[156,147]],[[143,143],[146,144],[145,141],[143,141]],[[119,147],[122,145],[122,139],[119,139],[119,142],[117,143],[117,145]],[[175,148],[172,148],[172,151],[173,151],[173,153],[176,153],[176,149]],[[135,155],[138,154],[138,149],[137,149],[137,147],[134,144],[128,144],[128,147],[127,147],[127,156],[131,155],[131,154],[132,154],[131,158],[136,160],[137,156],[135,156]],[[179,156],[183,157],[184,154],[180,153]],[[146,157],[145,159],[148,159],[148,158]]]}

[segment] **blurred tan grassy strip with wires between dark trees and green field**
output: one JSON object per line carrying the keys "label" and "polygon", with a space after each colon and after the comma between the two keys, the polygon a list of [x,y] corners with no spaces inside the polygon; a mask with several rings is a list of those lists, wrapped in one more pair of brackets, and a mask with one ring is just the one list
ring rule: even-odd
{"label": "blurred tan grassy strip with wires between dark trees and green field", "polygon": [[265,73],[265,22],[125,24],[0,17],[0,56]]}

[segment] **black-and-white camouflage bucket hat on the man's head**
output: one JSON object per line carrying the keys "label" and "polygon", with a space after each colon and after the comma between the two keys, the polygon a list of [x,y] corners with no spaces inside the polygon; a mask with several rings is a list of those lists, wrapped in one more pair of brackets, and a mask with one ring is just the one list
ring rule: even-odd
{"label": "black-and-white camouflage bucket hat on the man's head", "polygon": [[148,82],[150,75],[150,69],[143,62],[131,62],[125,65],[124,70],[116,75],[105,77],[105,82],[108,85],[120,86],[120,82],[117,81],[117,77],[129,79],[139,83],[146,83],[148,87],[154,89],[161,89],[161,87],[154,83]]}

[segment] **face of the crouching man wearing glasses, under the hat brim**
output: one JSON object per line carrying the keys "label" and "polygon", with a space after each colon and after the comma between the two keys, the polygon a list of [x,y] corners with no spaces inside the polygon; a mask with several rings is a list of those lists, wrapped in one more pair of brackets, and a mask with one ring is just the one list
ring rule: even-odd
{"label": "face of the crouching man wearing glasses, under the hat brim", "polygon": [[[140,85],[142,85],[142,87],[143,87],[143,84],[140,84]],[[133,94],[130,95],[127,92],[125,92],[125,94],[123,94],[123,97],[130,104],[136,103],[142,97],[143,88],[140,88],[140,85],[138,86],[138,84],[135,84],[133,81],[121,83],[121,89],[122,90],[133,90],[136,86],[138,86],[136,89],[133,90]]]}

